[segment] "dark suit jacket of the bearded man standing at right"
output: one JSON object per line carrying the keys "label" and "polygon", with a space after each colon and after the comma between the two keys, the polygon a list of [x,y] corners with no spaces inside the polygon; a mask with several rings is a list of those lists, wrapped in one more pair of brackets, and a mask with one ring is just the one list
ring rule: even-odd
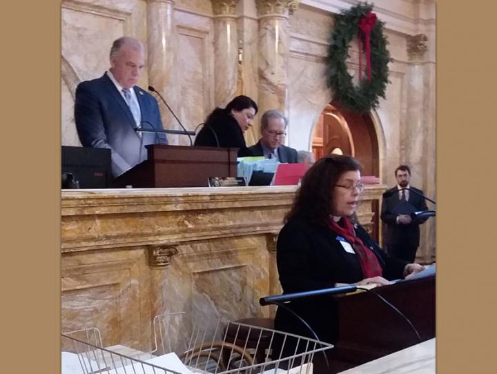
{"label": "dark suit jacket of the bearded man standing at right", "polygon": [[[411,187],[411,190],[415,190],[417,193],[425,195],[422,190],[418,188]],[[391,195],[390,195],[391,194]],[[385,195],[390,195],[387,198],[382,199],[382,212],[381,219],[387,224],[384,235],[384,245],[385,246],[398,246],[398,245],[408,245],[413,247],[419,246],[420,239],[420,228],[419,225],[427,220],[427,217],[421,219],[418,222],[411,222],[411,224],[397,224],[397,214],[395,213],[395,208],[399,204],[398,188],[393,187],[385,192]],[[409,204],[413,206],[416,210],[427,210],[426,200],[417,195],[416,193],[409,192]]]}

